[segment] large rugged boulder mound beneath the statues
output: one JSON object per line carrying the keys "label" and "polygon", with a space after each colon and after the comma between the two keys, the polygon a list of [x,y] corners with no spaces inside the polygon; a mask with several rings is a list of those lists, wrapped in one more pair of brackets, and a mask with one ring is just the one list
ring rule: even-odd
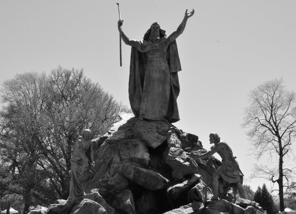
{"label": "large rugged boulder mound beneath the statues", "polygon": [[[258,204],[229,196],[211,202],[213,172],[221,164],[211,156],[193,160],[191,150],[206,152],[198,136],[164,121],[121,120],[100,138],[95,177],[86,195],[50,205],[49,214],[78,213],[262,213]],[[255,211],[252,208],[255,208]]]}

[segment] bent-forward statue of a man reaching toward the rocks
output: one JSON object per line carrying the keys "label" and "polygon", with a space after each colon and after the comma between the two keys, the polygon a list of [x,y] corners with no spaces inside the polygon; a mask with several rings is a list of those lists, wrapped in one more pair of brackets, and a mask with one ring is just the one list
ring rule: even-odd
{"label": "bent-forward statue of a man reaching toward the rocks", "polygon": [[234,196],[237,194],[237,189],[241,198],[245,198],[244,188],[242,186],[242,172],[239,165],[232,155],[232,150],[225,141],[220,141],[217,133],[210,133],[210,144],[214,144],[210,151],[199,155],[196,151],[190,153],[192,158],[205,158],[217,152],[222,158],[221,166],[213,174],[213,197],[212,200],[218,200],[218,186],[220,192],[223,192],[223,186],[218,182],[221,177],[229,184],[236,184],[233,186]]}

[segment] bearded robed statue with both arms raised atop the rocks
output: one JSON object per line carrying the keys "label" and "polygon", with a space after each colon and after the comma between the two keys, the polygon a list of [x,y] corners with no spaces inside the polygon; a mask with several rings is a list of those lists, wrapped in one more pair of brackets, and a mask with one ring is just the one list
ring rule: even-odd
{"label": "bearded robed statue with both arms raised atop the rocks", "polygon": [[[128,94],[131,109],[140,120],[180,120],[177,97],[180,87],[177,72],[181,70],[176,38],[183,33],[187,19],[170,36],[165,35],[157,22],[151,25],[143,41],[130,40],[122,31],[122,40],[131,48]],[[123,20],[118,21],[118,30]]]}

